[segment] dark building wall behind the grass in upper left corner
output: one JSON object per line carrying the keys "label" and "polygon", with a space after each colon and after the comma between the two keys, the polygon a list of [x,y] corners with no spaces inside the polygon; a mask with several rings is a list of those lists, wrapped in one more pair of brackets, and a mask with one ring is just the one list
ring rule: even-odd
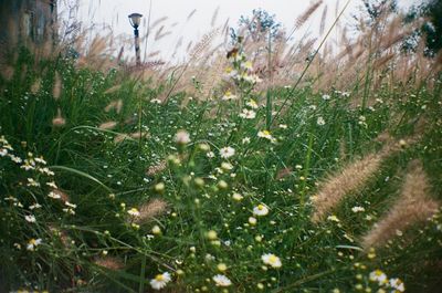
{"label": "dark building wall behind the grass in upper left corner", "polygon": [[55,0],[0,0],[0,45],[54,40]]}

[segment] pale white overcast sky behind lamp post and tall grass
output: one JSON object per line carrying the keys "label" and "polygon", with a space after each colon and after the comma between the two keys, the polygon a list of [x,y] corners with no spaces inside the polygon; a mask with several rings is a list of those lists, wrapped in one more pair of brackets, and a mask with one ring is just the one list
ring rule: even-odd
{"label": "pale white overcast sky behind lamp post and tall grass", "polygon": [[[63,1],[63,0],[62,0]],[[149,15],[150,0],[78,0],[80,10],[78,19],[84,23],[84,28],[91,27],[93,23],[99,24],[97,31],[103,30],[103,24],[112,28],[114,35],[124,35],[130,40],[133,29],[128,22],[127,15],[131,12],[144,14],[144,22],[139,28],[140,35],[146,32],[147,19]],[[241,15],[250,17],[252,10],[262,8],[271,14],[276,15],[276,20],[291,31],[295,19],[303,13],[312,1],[309,0],[151,0],[150,23],[162,17],[168,17],[166,21],[154,28],[147,42],[147,54],[161,51],[160,55],[152,56],[151,60],[162,57],[170,59],[175,46],[183,36],[183,44],[180,50],[181,56],[185,55],[186,46],[189,41],[198,41],[204,33],[211,30],[211,20],[213,12],[219,8],[217,25],[222,25],[228,19],[230,27],[236,27]],[[332,25],[336,15],[336,4],[338,2],[339,11],[347,0],[324,0],[324,3],[315,12],[315,14],[304,25],[304,31],[299,31],[297,38],[301,38],[306,30],[313,36],[318,36],[319,22],[325,6],[328,7],[326,30]],[[398,0],[401,8],[407,8],[412,3],[419,3],[419,0]],[[361,0],[350,0],[350,4],[346,10],[343,21],[350,22],[351,15],[358,13]],[[187,21],[189,13],[197,9],[192,18]],[[61,10],[63,4],[61,3]],[[164,32],[170,31],[171,34],[155,41],[155,33],[165,25]],[[296,36],[296,35],[295,35]],[[129,54],[133,48],[125,46],[125,53]],[[141,42],[141,56],[146,50],[146,43]],[[143,57],[144,59],[144,57]]]}

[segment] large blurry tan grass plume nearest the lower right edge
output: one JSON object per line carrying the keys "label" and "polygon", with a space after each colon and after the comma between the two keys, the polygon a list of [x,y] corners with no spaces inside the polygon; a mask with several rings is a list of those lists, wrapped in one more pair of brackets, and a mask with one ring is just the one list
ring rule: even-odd
{"label": "large blurry tan grass plume nearest the lower right edge", "polygon": [[414,166],[406,177],[399,199],[362,238],[364,248],[380,247],[392,239],[397,231],[422,222],[438,211],[439,202],[429,196],[429,179],[420,161],[412,161],[411,165]]}

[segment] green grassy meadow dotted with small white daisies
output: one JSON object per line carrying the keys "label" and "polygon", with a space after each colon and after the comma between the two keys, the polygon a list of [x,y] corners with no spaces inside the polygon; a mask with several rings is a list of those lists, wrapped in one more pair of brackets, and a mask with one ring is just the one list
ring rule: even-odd
{"label": "green grassy meadow dotted with small white daisies", "polygon": [[236,49],[214,85],[11,52],[1,292],[439,292],[438,71],[283,86]]}

